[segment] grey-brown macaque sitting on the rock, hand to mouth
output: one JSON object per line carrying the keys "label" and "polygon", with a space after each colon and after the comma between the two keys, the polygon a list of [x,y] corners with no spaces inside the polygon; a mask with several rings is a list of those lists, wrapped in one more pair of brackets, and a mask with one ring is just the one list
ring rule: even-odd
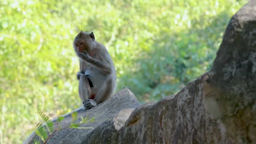
{"label": "grey-brown macaque sitting on the rock, hand to mouth", "polygon": [[112,96],[117,85],[114,63],[107,49],[95,40],[94,33],[81,31],[74,39],[79,57],[79,97],[85,109],[91,109]]}

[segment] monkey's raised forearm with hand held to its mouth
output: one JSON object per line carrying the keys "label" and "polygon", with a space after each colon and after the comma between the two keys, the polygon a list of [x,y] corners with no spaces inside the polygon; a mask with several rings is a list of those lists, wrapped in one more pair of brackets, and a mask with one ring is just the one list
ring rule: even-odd
{"label": "monkey's raised forearm with hand held to its mouth", "polygon": [[82,59],[84,59],[84,61],[91,63],[93,65],[95,65],[95,67],[97,67],[98,69],[101,69],[103,71],[103,73],[105,74],[112,74],[112,69],[110,68],[110,65],[108,64],[108,62],[106,61],[99,61],[95,58],[92,58],[88,55],[87,52],[85,53],[78,53],[78,56]]}

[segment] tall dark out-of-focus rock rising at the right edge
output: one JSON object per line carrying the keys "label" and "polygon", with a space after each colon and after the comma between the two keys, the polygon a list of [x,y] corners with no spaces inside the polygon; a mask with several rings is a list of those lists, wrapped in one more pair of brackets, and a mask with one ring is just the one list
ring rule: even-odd
{"label": "tall dark out-of-focus rock rising at the right edge", "polygon": [[238,143],[256,141],[256,1],[232,16],[206,76],[206,110]]}

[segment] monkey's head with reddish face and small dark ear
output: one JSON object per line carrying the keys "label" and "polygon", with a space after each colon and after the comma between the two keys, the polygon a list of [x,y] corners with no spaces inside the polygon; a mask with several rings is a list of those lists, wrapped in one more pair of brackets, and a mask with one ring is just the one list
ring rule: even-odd
{"label": "monkey's head with reddish face and small dark ear", "polygon": [[77,34],[77,36],[74,39],[73,47],[74,51],[76,53],[84,51],[90,52],[92,48],[95,47],[95,37],[94,33],[86,33],[81,31],[80,33]]}

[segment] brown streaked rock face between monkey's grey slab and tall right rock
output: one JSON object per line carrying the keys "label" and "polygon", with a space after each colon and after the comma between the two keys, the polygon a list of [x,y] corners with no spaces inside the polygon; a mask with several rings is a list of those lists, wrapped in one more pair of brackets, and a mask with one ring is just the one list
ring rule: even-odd
{"label": "brown streaked rock face between monkey's grey slab and tall right rock", "polygon": [[137,107],[119,130],[114,128],[113,121],[104,122],[86,135],[84,142],[233,143],[222,136],[220,122],[207,115],[202,83],[199,78],[174,97]]}

